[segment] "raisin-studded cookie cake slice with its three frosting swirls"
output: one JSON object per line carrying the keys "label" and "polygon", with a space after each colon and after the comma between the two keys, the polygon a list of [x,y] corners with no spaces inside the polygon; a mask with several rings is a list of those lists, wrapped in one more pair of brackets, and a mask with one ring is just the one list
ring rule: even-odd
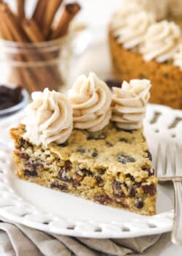
{"label": "raisin-studded cookie cake slice with its three frosting swirls", "polygon": [[[16,175],[138,214],[156,213],[157,178],[143,136],[149,80],[111,93],[95,74],[69,93],[33,93],[28,119],[10,130]],[[73,128],[74,127],[74,128]]]}

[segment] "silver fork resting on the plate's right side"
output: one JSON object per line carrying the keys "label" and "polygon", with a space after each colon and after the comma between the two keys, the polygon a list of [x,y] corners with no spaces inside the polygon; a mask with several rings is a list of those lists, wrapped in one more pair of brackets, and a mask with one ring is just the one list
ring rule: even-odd
{"label": "silver fork resting on the plate's right side", "polygon": [[180,146],[159,144],[155,170],[159,181],[173,181],[175,189],[175,216],[171,241],[182,245],[182,148]]}

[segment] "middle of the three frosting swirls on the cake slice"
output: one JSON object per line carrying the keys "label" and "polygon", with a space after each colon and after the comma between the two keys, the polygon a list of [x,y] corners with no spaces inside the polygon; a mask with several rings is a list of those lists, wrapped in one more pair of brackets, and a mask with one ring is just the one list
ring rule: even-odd
{"label": "middle of the three frosting swirls on the cake slice", "polygon": [[111,118],[111,91],[93,72],[80,75],[68,96],[74,110],[74,127],[96,132]]}

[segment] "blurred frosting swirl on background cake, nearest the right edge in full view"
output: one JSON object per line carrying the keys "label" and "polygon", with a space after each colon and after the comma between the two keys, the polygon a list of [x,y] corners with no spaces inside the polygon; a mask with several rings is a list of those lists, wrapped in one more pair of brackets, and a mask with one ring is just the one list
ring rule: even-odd
{"label": "blurred frosting swirl on background cake, nearest the right edge in full view", "polygon": [[164,62],[173,57],[180,41],[180,27],[164,20],[149,27],[140,52],[146,61]]}

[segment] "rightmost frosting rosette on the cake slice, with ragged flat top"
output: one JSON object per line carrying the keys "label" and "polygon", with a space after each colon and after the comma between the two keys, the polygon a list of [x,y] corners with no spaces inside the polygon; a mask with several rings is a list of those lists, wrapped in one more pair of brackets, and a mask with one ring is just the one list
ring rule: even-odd
{"label": "rightmost frosting rosette on the cake slice, with ragged flat top", "polygon": [[113,87],[111,121],[122,129],[142,127],[149,101],[151,82],[149,80],[124,81],[121,88]]}

